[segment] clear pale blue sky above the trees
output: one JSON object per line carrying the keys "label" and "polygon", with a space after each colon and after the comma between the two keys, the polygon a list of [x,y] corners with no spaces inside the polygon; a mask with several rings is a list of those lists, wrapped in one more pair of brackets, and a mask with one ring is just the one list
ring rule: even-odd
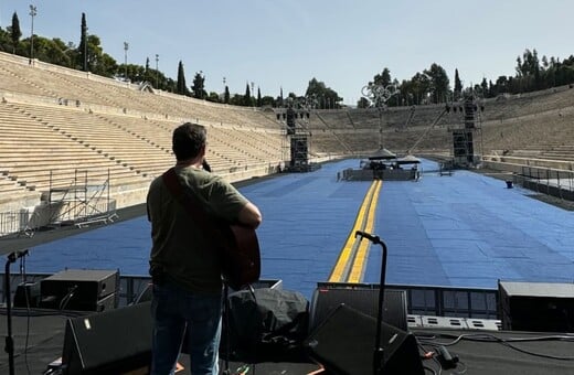
{"label": "clear pale blue sky above the trees", "polygon": [[23,38],[34,33],[79,43],[82,12],[104,51],[124,63],[156,66],[177,78],[181,61],[191,85],[208,92],[304,95],[311,78],[354,104],[361,88],[389,67],[408,79],[437,63],[465,86],[514,75],[525,49],[565,58],[574,54],[570,0],[0,0],[0,26],[18,13]]}

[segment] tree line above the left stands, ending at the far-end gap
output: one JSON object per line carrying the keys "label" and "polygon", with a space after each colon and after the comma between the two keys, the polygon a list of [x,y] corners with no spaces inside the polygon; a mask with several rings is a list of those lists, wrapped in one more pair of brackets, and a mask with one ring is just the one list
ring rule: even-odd
{"label": "tree line above the left stands, ending at the far-end gap", "polygon": [[[195,73],[192,85],[188,86],[181,61],[178,65],[178,77],[176,79],[168,77],[159,71],[157,55],[156,68],[152,67],[152,62],[150,62],[149,57],[146,58],[145,65],[128,64],[127,61],[118,63],[109,54],[105,53],[100,39],[96,34],[88,34],[87,30],[86,14],[82,13],[79,43],[77,45],[73,42],[64,42],[59,38],[47,39],[36,34],[22,39],[20,20],[18,13],[14,12],[11,25],[6,30],[0,28],[0,51],[35,58],[49,64],[91,72],[118,81],[147,83],[153,88],[214,103],[249,107],[301,106],[306,103],[305,97],[297,96],[295,93],[289,93],[284,98],[283,89],[280,89],[280,94],[277,97],[270,95],[262,96],[258,87],[257,94],[255,94],[253,83],[251,87],[249,83],[246,83],[245,94],[243,95],[232,95],[228,86],[225,86],[223,94],[208,93],[205,90],[205,75],[201,71]],[[128,43],[125,43],[126,54],[128,49]],[[341,106],[342,98],[333,89],[326,87],[323,83],[319,83],[315,78],[309,83],[307,95],[313,95],[318,98],[317,108],[339,108]]]}

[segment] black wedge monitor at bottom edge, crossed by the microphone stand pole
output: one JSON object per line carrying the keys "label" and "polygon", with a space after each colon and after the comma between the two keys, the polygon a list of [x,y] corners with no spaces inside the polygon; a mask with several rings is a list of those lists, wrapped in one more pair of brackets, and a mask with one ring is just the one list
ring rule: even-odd
{"label": "black wedge monitor at bottom edge, crossed by the microphone stand pole", "polygon": [[[311,332],[304,345],[328,374],[369,375],[374,373],[375,334],[376,319],[340,304]],[[411,333],[383,322],[381,349],[381,374],[425,374],[416,340]]]}

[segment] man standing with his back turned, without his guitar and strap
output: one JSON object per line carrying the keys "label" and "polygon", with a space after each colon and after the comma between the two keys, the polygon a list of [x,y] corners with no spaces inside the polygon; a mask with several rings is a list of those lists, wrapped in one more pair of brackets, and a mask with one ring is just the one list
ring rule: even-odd
{"label": "man standing with his back turned, without his guitar and strap", "polygon": [[[173,131],[174,171],[183,193],[193,194],[212,217],[256,228],[262,222],[257,206],[221,176],[203,169],[205,147],[206,131],[200,125],[185,122]],[[215,375],[222,278],[213,240],[170,193],[162,176],[150,185],[147,208],[152,238],[151,374],[173,373],[187,328],[191,373]]]}

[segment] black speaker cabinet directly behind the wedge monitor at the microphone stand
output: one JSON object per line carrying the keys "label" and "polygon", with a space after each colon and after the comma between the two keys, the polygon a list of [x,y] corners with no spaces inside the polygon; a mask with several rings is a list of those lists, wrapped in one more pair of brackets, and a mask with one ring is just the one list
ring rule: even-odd
{"label": "black speaker cabinet directly behind the wedge monitor at the microphone stand", "polygon": [[[311,300],[310,328],[320,324],[339,304],[344,303],[360,312],[376,318],[379,312],[379,288],[317,288]],[[403,331],[407,330],[406,291],[384,291],[383,321]]]}

